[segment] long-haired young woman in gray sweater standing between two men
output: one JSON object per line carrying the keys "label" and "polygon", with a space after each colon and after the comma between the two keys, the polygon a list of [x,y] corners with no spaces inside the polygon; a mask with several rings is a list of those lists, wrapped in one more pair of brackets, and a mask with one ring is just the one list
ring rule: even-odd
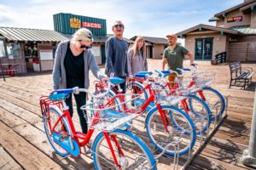
{"label": "long-haired young woman in gray sweater standing between two men", "polygon": [[146,46],[143,37],[137,37],[132,48],[128,50],[127,67],[130,76],[134,76],[138,71],[148,71]]}

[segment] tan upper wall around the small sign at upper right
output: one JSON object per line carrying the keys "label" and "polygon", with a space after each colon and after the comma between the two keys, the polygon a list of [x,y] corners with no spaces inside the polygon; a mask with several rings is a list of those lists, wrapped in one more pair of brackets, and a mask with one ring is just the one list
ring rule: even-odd
{"label": "tan upper wall around the small sign at upper right", "polygon": [[[236,17],[236,16],[242,16],[241,21],[237,22],[228,22],[229,17]],[[243,14],[237,9],[236,11],[231,12],[230,14],[227,14],[227,16],[224,19],[224,27],[230,28],[232,26],[249,26],[251,23],[251,13]]]}

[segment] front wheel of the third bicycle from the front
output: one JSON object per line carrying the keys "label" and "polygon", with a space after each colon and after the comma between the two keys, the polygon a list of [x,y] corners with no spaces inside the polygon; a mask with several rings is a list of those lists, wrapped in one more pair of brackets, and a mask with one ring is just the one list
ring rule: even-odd
{"label": "front wheel of the third bicycle from the front", "polygon": [[187,114],[195,124],[196,134],[206,132],[212,121],[212,112],[207,103],[195,95],[188,95],[184,102],[189,106]]}

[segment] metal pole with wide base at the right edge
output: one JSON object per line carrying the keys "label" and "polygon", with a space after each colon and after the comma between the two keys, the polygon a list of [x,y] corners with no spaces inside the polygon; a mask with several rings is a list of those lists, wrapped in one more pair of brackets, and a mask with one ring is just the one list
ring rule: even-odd
{"label": "metal pole with wide base at the right edge", "polygon": [[256,167],[256,93],[255,92],[254,92],[253,119],[252,119],[252,125],[251,125],[249,146],[247,150],[243,150],[240,161],[244,165],[247,165],[250,167]]}

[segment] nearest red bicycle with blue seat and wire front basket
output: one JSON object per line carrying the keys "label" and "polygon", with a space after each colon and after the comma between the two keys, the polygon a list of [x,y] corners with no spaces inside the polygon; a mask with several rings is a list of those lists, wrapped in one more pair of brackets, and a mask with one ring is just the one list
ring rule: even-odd
{"label": "nearest red bicycle with blue seat and wire front basket", "polygon": [[[111,82],[115,80],[110,79]],[[104,105],[105,94],[94,95],[84,88],[56,90],[55,93],[40,99],[44,120],[44,128],[49,144],[60,156],[79,157],[80,148],[88,144],[95,130],[100,130],[96,136],[91,153],[96,169],[156,169],[156,161],[148,146],[137,135],[119,129],[136,116],[134,114],[113,111]],[[69,94],[88,93],[95,99],[92,104],[81,107],[90,111],[84,117],[89,131],[87,134],[75,130],[72,118],[65,103]]]}

